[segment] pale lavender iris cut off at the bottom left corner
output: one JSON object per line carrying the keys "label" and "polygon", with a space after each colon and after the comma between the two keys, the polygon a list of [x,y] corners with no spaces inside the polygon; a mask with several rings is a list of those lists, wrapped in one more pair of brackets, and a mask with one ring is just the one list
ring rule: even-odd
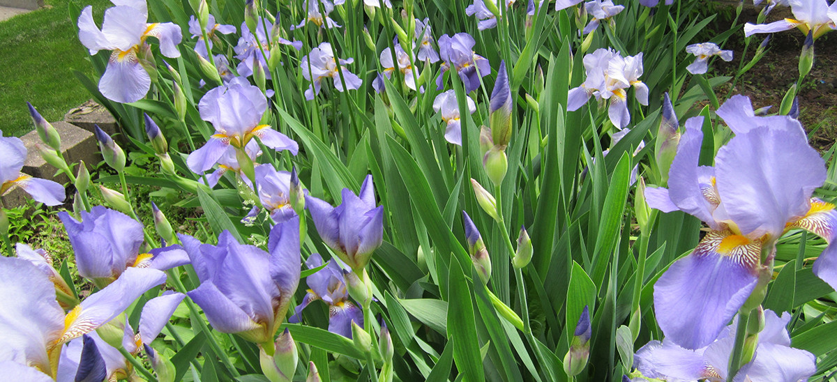
{"label": "pale lavender iris cut off at the bottom left corner", "polygon": [[0,349],[6,350],[0,352],[0,363],[21,364],[56,378],[65,343],[92,333],[165,282],[162,271],[132,267],[65,314],[44,272],[26,260],[0,257]]}

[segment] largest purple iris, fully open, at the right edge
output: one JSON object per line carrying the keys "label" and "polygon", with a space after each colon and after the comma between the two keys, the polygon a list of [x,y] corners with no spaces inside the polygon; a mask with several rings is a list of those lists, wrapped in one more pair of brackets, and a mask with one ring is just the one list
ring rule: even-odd
{"label": "largest purple iris, fully open, at the right edge", "polygon": [[[721,333],[769,272],[774,242],[784,232],[804,228],[829,242],[837,232],[834,205],[811,198],[825,180],[824,160],[797,120],[757,117],[742,95],[727,100],[717,115],[736,135],[718,150],[715,166],[698,166],[703,117],[691,118],[671,163],[669,188],[645,190],[649,206],[684,211],[710,227],[654,288],[660,329],[687,349],[702,348]],[[837,287],[837,246],[826,247],[814,273]]]}

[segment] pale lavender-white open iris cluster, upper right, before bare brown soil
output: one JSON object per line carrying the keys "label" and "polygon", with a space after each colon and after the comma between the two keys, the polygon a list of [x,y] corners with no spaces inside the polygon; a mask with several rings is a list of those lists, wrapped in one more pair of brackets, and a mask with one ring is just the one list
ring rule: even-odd
{"label": "pale lavender-white open iris cluster, upper right, before bare brown soil", "polygon": [[591,96],[598,100],[609,99],[608,117],[618,129],[630,123],[628,111],[629,87],[639,104],[648,104],[648,86],[639,77],[643,74],[642,55],[622,57],[613,49],[598,48],[584,56],[587,79],[567,95],[567,110],[575,111],[587,103]]}

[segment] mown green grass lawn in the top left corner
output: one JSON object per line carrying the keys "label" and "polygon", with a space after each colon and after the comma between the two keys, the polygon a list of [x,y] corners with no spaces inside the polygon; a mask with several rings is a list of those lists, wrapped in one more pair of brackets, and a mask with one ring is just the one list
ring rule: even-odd
{"label": "mown green grass lawn in the top left corner", "polygon": [[[20,136],[33,130],[26,108],[31,102],[49,121],[62,120],[67,110],[90,99],[73,75],[93,74],[88,52],[69,19],[69,0],[46,0],[47,7],[0,22],[0,130]],[[101,21],[107,0],[83,0]]]}

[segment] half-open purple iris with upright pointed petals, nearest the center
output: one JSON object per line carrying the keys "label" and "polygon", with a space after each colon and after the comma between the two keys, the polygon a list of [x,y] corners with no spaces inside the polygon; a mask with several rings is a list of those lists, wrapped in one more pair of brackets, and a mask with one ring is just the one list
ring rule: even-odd
{"label": "half-open purple iris with upright pointed petals, nearest the center", "polygon": [[367,176],[359,195],[344,188],[343,202],[332,207],[326,201],[306,195],[316,231],[355,272],[360,272],[383,242],[383,206],[375,206],[375,186]]}

